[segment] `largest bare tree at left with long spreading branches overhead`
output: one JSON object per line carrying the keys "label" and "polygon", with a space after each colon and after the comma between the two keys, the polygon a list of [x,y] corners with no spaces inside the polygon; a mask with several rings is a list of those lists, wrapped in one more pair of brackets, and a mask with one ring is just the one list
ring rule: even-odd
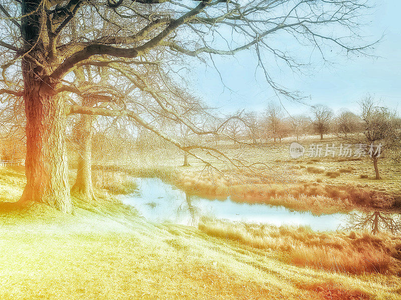
{"label": "largest bare tree at left with long spreading branches overhead", "polygon": [[[23,95],[27,119],[27,185],[21,201],[40,201],[63,211],[72,209],[66,155],[66,118],[71,113],[129,117],[190,150],[153,126],[151,113],[143,113],[143,105],[126,109],[68,103],[62,91],[73,86],[76,68],[112,64],[124,73],[129,66],[158,61],[160,52],[206,61],[213,55],[233,55],[253,48],[268,84],[295,98],[272,80],[261,53],[271,53],[291,70],[301,69],[305,63],[286,49],[272,46],[268,38],[293,36],[302,45],[308,42],[311,49],[318,48],[323,59],[326,45],[346,54],[365,53],[369,47],[358,44],[358,21],[368,8],[364,0],[5,0],[0,8],[4,16],[0,33],[4,80],[0,90]],[[92,24],[104,22],[110,26],[99,36],[99,25]],[[344,30],[345,35],[337,34]],[[13,84],[22,81],[23,89]],[[165,98],[155,98],[164,114],[194,132],[207,134],[182,118],[179,107],[170,106]]]}

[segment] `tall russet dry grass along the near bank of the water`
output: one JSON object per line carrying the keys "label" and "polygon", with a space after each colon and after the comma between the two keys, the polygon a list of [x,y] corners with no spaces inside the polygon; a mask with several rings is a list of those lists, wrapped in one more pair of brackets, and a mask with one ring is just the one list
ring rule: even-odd
{"label": "tall russet dry grass along the near bank of the water", "polygon": [[401,275],[401,241],[389,234],[314,232],[308,227],[233,223],[204,218],[199,229],[260,249],[282,253],[295,265],[332,272]]}

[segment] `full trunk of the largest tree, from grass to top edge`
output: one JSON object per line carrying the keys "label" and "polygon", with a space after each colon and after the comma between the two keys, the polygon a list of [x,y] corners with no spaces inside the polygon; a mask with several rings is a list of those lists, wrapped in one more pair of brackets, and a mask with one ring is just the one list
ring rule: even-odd
{"label": "full trunk of the largest tree, from grass to top edge", "polygon": [[22,2],[24,40],[22,73],[27,116],[27,185],[20,202],[38,201],[71,212],[66,154],[65,101],[56,92],[61,80],[46,76],[58,58],[48,56],[49,34],[44,30],[41,0]]}

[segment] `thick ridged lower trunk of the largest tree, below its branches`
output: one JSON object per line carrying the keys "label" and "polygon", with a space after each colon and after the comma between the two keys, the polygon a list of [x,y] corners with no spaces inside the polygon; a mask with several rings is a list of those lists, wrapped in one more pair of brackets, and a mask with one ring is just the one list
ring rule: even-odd
{"label": "thick ridged lower trunk of the largest tree, below its branches", "polygon": [[38,201],[71,212],[64,100],[49,83],[24,74],[27,115],[27,185],[20,201]]}

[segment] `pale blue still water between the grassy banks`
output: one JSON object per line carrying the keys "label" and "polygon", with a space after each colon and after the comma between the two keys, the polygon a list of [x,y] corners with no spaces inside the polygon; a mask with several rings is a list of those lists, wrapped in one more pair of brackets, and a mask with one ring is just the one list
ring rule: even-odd
{"label": "pale blue still water between the grassy banks", "polygon": [[154,222],[169,221],[184,225],[197,225],[201,216],[232,221],[270,223],[274,225],[308,225],[313,230],[341,229],[348,223],[346,213],[313,215],[310,212],[291,211],[283,206],[249,204],[208,199],[187,195],[159,178],[134,178],[138,183],[135,193],[123,196],[125,204],[132,205],[146,219]]}

